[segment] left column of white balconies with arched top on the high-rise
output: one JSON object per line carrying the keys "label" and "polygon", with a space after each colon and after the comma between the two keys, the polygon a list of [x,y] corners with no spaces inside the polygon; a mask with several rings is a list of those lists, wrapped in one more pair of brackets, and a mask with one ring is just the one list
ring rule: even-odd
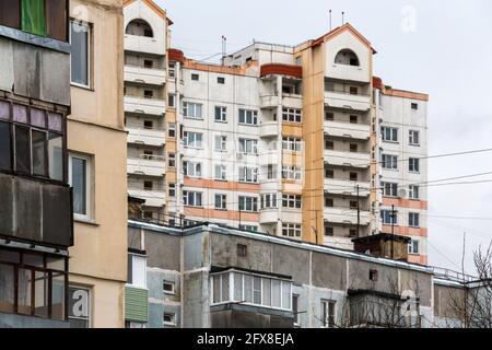
{"label": "left column of white balconies with arched top on the high-rise", "polygon": [[148,219],[164,215],[166,150],[166,13],[150,0],[124,1],[128,191],[145,199]]}

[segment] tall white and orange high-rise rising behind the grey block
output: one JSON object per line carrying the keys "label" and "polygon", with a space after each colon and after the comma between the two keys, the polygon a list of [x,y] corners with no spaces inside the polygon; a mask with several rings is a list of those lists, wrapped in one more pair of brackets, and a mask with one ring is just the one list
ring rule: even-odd
{"label": "tall white and orange high-rise rising behind the grey block", "polygon": [[[127,7],[127,32],[138,21],[148,34],[168,35],[159,45],[171,42],[168,20],[153,22],[160,11],[150,1]],[[137,19],[137,9],[154,14]],[[145,57],[149,48],[138,47],[140,54],[127,48],[126,55]],[[145,163],[137,174],[137,161],[128,161],[129,178],[140,178],[143,190],[130,185],[130,195],[148,200],[144,217],[344,249],[354,249],[353,240],[394,233],[411,237],[409,260],[426,262],[426,196],[419,184],[426,180],[429,97],[374,77],[376,51],[352,25],[296,46],[255,42],[220,65],[166,52],[167,80],[155,92],[159,147],[142,145],[150,142],[143,137],[134,145],[131,130],[129,137],[129,152],[147,152],[133,154]],[[133,77],[127,94],[130,85],[145,102],[149,83]],[[142,124],[157,113],[126,108],[128,128],[128,120]],[[157,199],[160,214],[151,212],[161,208]]]}

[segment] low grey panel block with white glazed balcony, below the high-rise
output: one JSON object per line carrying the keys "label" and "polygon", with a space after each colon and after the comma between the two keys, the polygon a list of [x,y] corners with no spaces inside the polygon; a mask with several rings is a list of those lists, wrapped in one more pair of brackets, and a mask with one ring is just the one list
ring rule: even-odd
{"label": "low grey panel block with white glazed balcony, below the high-rise", "polygon": [[131,328],[459,327],[456,305],[467,285],[482,285],[450,271],[218,224],[129,221],[128,243]]}

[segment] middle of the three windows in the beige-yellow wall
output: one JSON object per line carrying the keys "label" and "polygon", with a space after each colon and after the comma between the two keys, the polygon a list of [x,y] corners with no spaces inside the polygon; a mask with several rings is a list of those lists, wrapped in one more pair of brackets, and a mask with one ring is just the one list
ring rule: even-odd
{"label": "middle of the three windows in the beige-yellow wall", "polygon": [[90,212],[90,159],[83,155],[70,155],[70,186],[73,187],[73,213],[89,219]]}

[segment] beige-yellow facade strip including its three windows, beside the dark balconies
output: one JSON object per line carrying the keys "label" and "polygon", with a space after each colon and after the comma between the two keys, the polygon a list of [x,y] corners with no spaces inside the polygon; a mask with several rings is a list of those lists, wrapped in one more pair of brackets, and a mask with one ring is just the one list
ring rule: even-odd
{"label": "beige-yellow facade strip including its three windows, beside the dark balconies", "polygon": [[122,31],[121,0],[70,1],[71,327],[124,326],[128,196]]}

